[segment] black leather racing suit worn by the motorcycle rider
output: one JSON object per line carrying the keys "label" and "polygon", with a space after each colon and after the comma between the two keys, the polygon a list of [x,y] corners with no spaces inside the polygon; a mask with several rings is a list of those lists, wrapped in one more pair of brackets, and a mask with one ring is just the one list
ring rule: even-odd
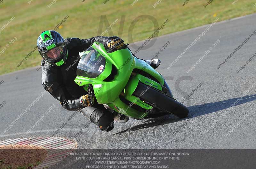
{"label": "black leather racing suit worn by the motorcycle rider", "polygon": [[57,100],[60,101],[64,109],[77,110],[87,116],[93,123],[108,130],[113,129],[113,115],[104,108],[103,105],[94,102],[91,107],[84,107],[80,104],[80,97],[87,92],[78,86],[74,79],[76,78],[76,68],[79,62],[79,52],[85,51],[94,41],[103,43],[106,46],[108,39],[113,37],[92,37],[90,39],[67,38],[65,44],[68,50],[68,58],[65,64],[60,67],[54,67],[47,62],[42,61],[42,85],[44,89]]}

